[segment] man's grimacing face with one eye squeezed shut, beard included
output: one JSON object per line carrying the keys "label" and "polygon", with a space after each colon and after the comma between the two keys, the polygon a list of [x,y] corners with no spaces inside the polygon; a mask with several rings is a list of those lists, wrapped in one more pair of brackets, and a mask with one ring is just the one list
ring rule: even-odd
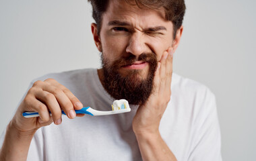
{"label": "man's grimacing face with one eye squeezed shut, beard included", "polygon": [[[103,71],[99,72],[102,73],[101,80],[104,80],[102,84],[117,82],[123,78],[119,85],[105,85],[105,89],[110,86],[115,88],[112,92],[109,92],[111,89],[106,91],[112,96],[121,93],[121,98],[116,95],[115,99],[127,99],[129,93],[132,93],[131,97],[148,93],[144,98],[147,99],[152,91],[157,62],[162,53],[173,45],[172,22],[164,19],[164,11],[141,9],[124,0],[113,0],[102,15],[100,36],[96,35],[95,24],[92,25],[92,32],[96,46],[102,52]],[[117,89],[117,86],[121,86],[121,89]],[[126,89],[122,91],[123,87]],[[142,91],[138,91],[141,89]],[[122,95],[125,91],[128,93]],[[135,93],[138,95],[134,96]],[[131,103],[132,100],[128,101]],[[138,103],[141,102],[134,101],[131,104]]]}

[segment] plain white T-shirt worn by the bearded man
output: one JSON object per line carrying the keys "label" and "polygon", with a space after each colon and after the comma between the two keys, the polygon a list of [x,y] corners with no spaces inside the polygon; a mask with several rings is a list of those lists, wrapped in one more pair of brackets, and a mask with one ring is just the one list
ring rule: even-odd
{"label": "plain white T-shirt worn by the bearded man", "polygon": [[[104,91],[96,69],[47,74],[36,80],[55,78],[84,105],[111,110],[114,99]],[[35,81],[35,80],[34,80]],[[219,161],[220,126],[216,100],[204,85],[172,74],[172,95],[160,122],[160,133],[177,160]],[[28,160],[142,160],[131,122],[137,111],[117,115],[63,116],[36,131]],[[0,145],[3,142],[1,136]]]}

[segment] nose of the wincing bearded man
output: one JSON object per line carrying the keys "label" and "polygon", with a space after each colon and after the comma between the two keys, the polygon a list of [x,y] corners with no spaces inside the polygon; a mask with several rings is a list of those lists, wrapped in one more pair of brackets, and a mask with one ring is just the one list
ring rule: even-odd
{"label": "nose of the wincing bearded man", "polygon": [[133,33],[129,40],[129,44],[127,45],[126,52],[139,56],[146,52],[146,50],[146,41],[144,40],[143,35],[140,33]]}

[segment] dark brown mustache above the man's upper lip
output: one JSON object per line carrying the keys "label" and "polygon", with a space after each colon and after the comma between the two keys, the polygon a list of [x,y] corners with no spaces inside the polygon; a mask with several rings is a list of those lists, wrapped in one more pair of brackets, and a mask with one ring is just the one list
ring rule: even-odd
{"label": "dark brown mustache above the man's upper lip", "polygon": [[139,55],[139,57],[136,57],[135,55],[130,54],[127,57],[122,57],[122,58],[119,58],[118,60],[115,60],[113,62],[113,66],[115,66],[115,68],[120,68],[122,66],[129,66],[136,61],[143,61],[143,62],[148,62],[152,64],[152,62],[157,61],[156,54],[154,54],[153,52],[142,53]]}

